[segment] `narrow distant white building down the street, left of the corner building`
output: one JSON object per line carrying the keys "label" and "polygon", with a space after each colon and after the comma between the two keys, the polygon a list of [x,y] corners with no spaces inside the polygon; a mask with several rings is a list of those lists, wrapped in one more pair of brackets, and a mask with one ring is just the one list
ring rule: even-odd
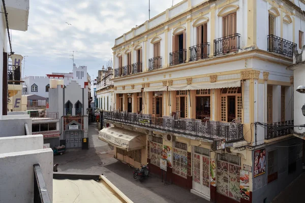
{"label": "narrow distant white building down the street, left of the corner building", "polygon": [[103,65],[102,70],[99,71],[96,95],[97,95],[97,107],[104,111],[110,111],[114,109],[114,93],[113,93],[113,69],[112,67],[105,67]]}

